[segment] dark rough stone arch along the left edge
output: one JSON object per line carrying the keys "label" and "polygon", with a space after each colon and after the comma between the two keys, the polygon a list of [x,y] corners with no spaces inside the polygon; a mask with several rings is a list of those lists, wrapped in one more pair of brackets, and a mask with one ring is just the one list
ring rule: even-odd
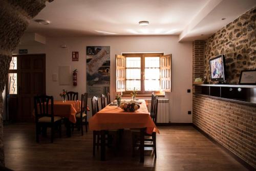
{"label": "dark rough stone arch along the left edge", "polygon": [[12,51],[27,29],[29,20],[45,8],[47,0],[0,0],[0,165],[4,165],[3,97]]}

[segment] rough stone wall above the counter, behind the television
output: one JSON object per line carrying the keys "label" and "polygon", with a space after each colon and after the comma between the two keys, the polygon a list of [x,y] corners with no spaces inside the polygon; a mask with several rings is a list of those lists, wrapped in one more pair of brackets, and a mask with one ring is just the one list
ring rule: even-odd
{"label": "rough stone wall above the counter, behind the television", "polygon": [[206,41],[204,75],[210,80],[209,59],[225,55],[229,83],[238,83],[242,70],[256,69],[256,7],[229,23]]}

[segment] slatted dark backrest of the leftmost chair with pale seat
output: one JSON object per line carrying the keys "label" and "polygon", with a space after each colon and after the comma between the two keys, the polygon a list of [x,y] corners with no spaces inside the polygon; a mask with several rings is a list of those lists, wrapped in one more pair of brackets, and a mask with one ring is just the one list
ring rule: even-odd
{"label": "slatted dark backrest of the leftmost chair with pale seat", "polygon": [[[43,116],[51,117],[51,122],[54,122],[53,117],[53,96],[40,95],[34,97],[35,121]],[[49,109],[50,107],[50,109]]]}

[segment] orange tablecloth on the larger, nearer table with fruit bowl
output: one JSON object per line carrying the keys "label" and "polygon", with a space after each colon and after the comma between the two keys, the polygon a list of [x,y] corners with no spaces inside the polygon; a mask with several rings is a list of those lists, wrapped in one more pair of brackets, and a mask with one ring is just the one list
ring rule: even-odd
{"label": "orange tablecloth on the larger, nearer table with fruit bowl", "polygon": [[154,121],[148,114],[145,100],[140,100],[140,109],[125,112],[117,106],[107,105],[89,120],[89,129],[93,131],[129,129],[146,127],[146,133],[159,133]]}

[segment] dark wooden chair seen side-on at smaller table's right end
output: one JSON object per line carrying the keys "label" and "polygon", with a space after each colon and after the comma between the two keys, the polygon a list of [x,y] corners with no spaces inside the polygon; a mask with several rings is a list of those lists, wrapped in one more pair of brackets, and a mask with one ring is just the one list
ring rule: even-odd
{"label": "dark wooden chair seen side-on at smaller table's right end", "polygon": [[86,132],[87,130],[87,98],[88,93],[84,93],[81,95],[81,110],[76,114],[76,125],[78,130],[81,130],[81,134],[83,135],[83,119],[86,121]]}

